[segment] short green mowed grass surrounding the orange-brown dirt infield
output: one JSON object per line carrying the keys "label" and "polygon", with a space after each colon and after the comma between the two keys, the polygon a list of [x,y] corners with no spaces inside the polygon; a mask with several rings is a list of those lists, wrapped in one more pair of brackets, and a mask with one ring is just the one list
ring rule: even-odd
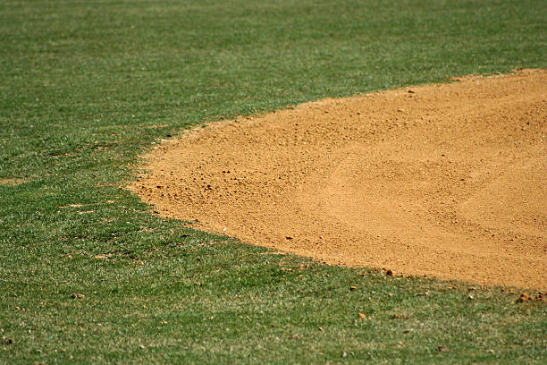
{"label": "short green mowed grass surrounding the orange-brown dirt infield", "polygon": [[543,364],[518,290],[278,255],[120,187],[207,120],[545,67],[546,24],[537,0],[0,1],[0,364]]}

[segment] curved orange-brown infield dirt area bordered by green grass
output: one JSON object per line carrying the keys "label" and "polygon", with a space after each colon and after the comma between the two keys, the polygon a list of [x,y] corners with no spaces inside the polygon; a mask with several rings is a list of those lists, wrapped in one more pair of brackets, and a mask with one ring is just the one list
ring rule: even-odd
{"label": "curved orange-brown infield dirt area bordered by green grass", "polygon": [[547,71],[324,99],[186,132],[161,216],[328,264],[547,288]]}

